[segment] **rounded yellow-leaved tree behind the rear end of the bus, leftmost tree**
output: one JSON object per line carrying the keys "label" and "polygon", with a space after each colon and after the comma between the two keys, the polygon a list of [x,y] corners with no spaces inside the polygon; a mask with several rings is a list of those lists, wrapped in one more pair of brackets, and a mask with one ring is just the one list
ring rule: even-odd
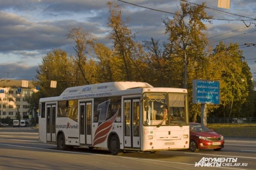
{"label": "rounded yellow-leaved tree behind the rear end of the bus, leftmost tree", "polygon": [[[59,96],[67,87],[74,86],[73,62],[71,56],[61,49],[48,52],[42,59],[42,64],[36,70],[36,86],[40,86],[41,95],[38,96]],[[75,67],[76,68],[76,67]],[[50,88],[51,80],[57,81],[57,88]]]}

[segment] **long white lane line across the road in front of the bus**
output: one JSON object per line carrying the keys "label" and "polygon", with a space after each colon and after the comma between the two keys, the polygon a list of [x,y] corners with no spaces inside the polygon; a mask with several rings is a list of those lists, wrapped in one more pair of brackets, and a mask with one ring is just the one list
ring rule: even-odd
{"label": "long white lane line across the road in front of the bus", "polygon": [[[67,153],[75,153],[75,154],[86,154],[86,155],[99,155],[99,156],[106,156],[106,157],[117,157],[114,155],[104,155],[104,154],[92,154],[92,153],[83,153],[83,152],[72,152],[72,151],[64,151],[64,150],[52,150],[52,149],[46,149],[46,148],[36,148],[36,147],[29,147],[29,146],[18,146],[18,145],[10,145],[10,144],[1,144],[0,145],[6,145],[6,146],[16,146],[16,147],[23,147],[23,148],[34,148],[34,149],[41,149],[41,150],[51,150],[51,151],[57,151],[57,152],[67,152]],[[166,163],[174,163],[174,164],[184,164],[184,165],[192,165],[195,166],[195,164],[188,164],[188,163],[181,163],[181,162],[171,162],[171,161],[165,161],[165,160],[154,160],[154,159],[144,159],[144,158],[132,158],[132,157],[124,157],[124,156],[118,156],[120,158],[124,159],[132,159],[132,160],[147,160],[147,161],[154,161],[154,162],[166,162]],[[228,168],[228,167],[218,167],[218,168],[224,168],[224,169],[232,169],[232,170],[244,170],[240,168]]]}

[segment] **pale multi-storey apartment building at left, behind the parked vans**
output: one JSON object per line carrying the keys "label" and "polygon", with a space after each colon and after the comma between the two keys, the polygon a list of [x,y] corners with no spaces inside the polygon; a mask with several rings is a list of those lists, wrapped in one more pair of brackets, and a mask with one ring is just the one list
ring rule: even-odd
{"label": "pale multi-storey apartment building at left, behind the parked vans", "polygon": [[30,115],[26,97],[34,92],[32,81],[0,80],[0,118],[16,119],[16,115],[20,115],[22,119],[23,115]]}

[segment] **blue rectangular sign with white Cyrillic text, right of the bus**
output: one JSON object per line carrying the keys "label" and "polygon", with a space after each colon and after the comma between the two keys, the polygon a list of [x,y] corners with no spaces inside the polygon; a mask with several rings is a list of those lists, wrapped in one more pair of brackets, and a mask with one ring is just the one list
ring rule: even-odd
{"label": "blue rectangular sign with white Cyrillic text, right of the bus", "polygon": [[193,80],[193,104],[220,104],[220,82]]}

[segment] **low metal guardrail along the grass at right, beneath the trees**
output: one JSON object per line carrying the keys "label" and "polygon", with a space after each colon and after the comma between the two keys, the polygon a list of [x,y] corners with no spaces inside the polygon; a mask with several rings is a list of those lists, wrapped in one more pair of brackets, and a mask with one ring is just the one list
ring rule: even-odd
{"label": "low metal guardrail along the grass at right, beneath the trees", "polygon": [[207,118],[207,123],[256,123],[256,117],[250,117],[250,118]]}

